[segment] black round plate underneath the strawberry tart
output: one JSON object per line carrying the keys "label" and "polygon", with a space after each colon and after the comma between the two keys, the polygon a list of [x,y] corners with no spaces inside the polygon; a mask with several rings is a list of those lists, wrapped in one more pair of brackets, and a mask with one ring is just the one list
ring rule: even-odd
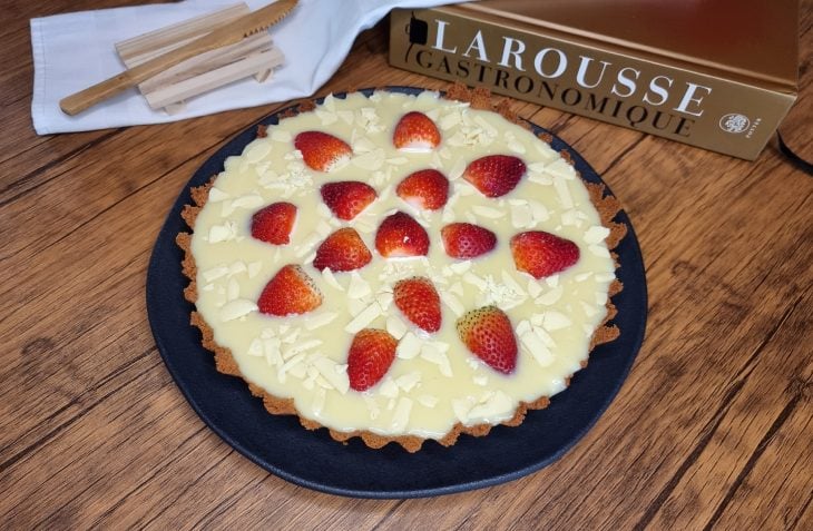
{"label": "black round plate underneath the strawberry tart", "polygon": [[[388,90],[418,94],[422,89]],[[370,95],[372,89],[362,92]],[[284,110],[261,124],[277,124]],[[533,129],[543,131],[537,126]],[[615,324],[621,335],[595,348],[589,366],[575,375],[570,387],[554,396],[548,409],[529,412],[518,427],[497,426],[486,437],[461,435],[451,448],[429,441],[414,454],[398,444],[371,450],[357,437],[344,445],[333,441],[326,430],[306,431],[295,416],[268,414],[241,378],[217,373],[212,353],[200,345],[197,328],[189,325],[193,307],[183,297],[187,279],[180,272],[183,256],[175,236],[188,230],[180,209],[192,203],[189,187],[219,173],[226,157],[239,155],[255,137],[256,126],[246,129],[184,186],[158,235],[147,274],[149,324],[164,362],[192,407],[226,443],[268,472],[310,489],[360,498],[418,498],[494,485],[535,472],[560,458],[595,424],[629,372],[646,326],[644,263],[624,212],[617,220],[629,233],[616,249],[624,291],[614,297],[618,307]],[[555,137],[552,147],[570,154],[584,179],[601,183],[567,144]]]}

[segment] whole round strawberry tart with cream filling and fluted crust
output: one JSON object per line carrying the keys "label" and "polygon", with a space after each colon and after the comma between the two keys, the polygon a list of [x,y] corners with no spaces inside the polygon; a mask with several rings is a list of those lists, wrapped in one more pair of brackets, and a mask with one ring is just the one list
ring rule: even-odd
{"label": "whole round strawberry tart with cream filling and fluted crust", "polygon": [[453,87],[287,115],[193,189],[177,238],[204,346],[271,413],[451,445],[618,335],[619,205],[506,106]]}

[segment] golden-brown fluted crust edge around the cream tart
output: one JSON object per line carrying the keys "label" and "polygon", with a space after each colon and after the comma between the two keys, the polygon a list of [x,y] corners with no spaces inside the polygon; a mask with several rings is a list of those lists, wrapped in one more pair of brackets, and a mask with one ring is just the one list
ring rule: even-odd
{"label": "golden-brown fluted crust edge around the cream tart", "polygon": [[[385,90],[385,88],[382,88],[382,90]],[[445,99],[469,102],[473,109],[490,110],[492,112],[499,114],[508,121],[517,124],[526,129],[531,128],[528,121],[520,118],[516,112],[510,109],[510,102],[508,99],[494,101],[491,92],[487,89],[469,89],[462,83],[454,83],[449,87],[443,97]],[[315,104],[312,100],[304,100],[300,102],[295,108],[291,108],[287,111],[283,112],[281,115],[281,118],[284,119],[296,116],[301,112],[311,111],[314,108]],[[257,136],[264,137],[265,129],[266,126],[257,126]],[[552,137],[548,134],[540,134],[538,135],[538,137],[540,140],[548,144],[552,139]],[[571,166],[574,165],[569,153],[562,150],[560,151],[560,155],[568,164],[570,164]],[[209,189],[212,188],[216,177],[217,176],[215,175],[206,184],[198,187],[193,187],[190,189],[192,200],[194,204],[185,205],[184,209],[180,213],[180,216],[193,230],[195,229],[195,220],[197,218],[197,214],[208,200]],[[601,218],[601,224],[610,232],[605,242],[607,244],[607,247],[610,249],[617,269],[618,256],[617,254],[613,253],[613,249],[618,246],[624,236],[627,234],[627,226],[614,222],[613,219],[615,219],[616,215],[621,210],[621,205],[615,197],[606,195],[606,188],[604,185],[587,181],[585,181],[584,184],[589,193],[590,201],[592,203],[599,214],[599,217]],[[178,247],[180,247],[180,249],[184,252],[184,258],[182,260],[182,272],[184,276],[189,279],[189,285],[184,289],[184,298],[186,298],[186,301],[188,301],[189,303],[195,304],[197,302],[197,266],[195,264],[195,257],[192,254],[192,233],[179,233],[176,236],[175,242]],[[618,330],[618,327],[614,324],[609,324],[609,322],[617,314],[617,309],[611,302],[611,297],[620,293],[621,289],[623,285],[620,281],[618,281],[618,278],[614,279],[610,283],[606,303],[607,315],[605,316],[604,322],[592,333],[592,336],[590,338],[589,352],[592,352],[592,350],[597,345],[614,341],[620,335],[620,331]],[[316,421],[305,419],[304,416],[300,415],[300,412],[294,406],[293,399],[282,399],[278,396],[274,396],[258,385],[255,385],[252,382],[247,381],[239,372],[237,363],[232,355],[232,351],[218,345],[217,342],[215,342],[212,327],[208,325],[208,323],[206,323],[206,321],[198,312],[192,312],[189,323],[200,331],[200,334],[203,336],[203,346],[214,353],[215,367],[217,368],[217,371],[223,374],[228,374],[231,376],[237,376],[243,378],[248,385],[248,390],[251,391],[252,395],[263,400],[263,405],[268,411],[268,413],[274,415],[296,415],[300,419],[300,423],[307,430],[317,430],[320,427],[325,427]],[[585,368],[586,366],[587,361],[581,362],[581,368]],[[570,377],[566,380],[566,384],[569,385],[569,383]],[[547,407],[549,403],[550,400],[548,396],[540,396],[533,402],[520,402],[517,405],[513,416],[507,421],[501,422],[501,424],[507,426],[518,426],[525,420],[528,411],[542,410]],[[443,446],[451,446],[458,441],[458,437],[462,433],[473,436],[484,436],[488,435],[488,433],[491,431],[491,424],[476,424],[471,426],[466,426],[462,423],[458,422],[457,424],[454,424],[454,426],[452,426],[449,433],[447,433],[442,439],[438,439],[435,441]],[[363,430],[356,430],[352,432],[341,432],[333,429],[327,430],[331,437],[345,444],[350,439],[353,437],[360,437],[364,442],[364,444],[372,449],[380,449],[391,442],[394,442],[403,446],[403,449],[410,453],[418,452],[425,441],[425,439],[417,435],[384,436]]]}

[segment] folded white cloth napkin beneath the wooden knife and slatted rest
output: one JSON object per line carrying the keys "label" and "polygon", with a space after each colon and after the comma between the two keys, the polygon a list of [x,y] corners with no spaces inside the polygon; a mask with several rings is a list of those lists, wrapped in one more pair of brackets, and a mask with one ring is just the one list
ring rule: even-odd
{"label": "folded white cloth napkin beneath the wooden knife and slatted rest", "polygon": [[[120,72],[114,43],[223,9],[238,0],[187,0],[180,3],[105,9],[31,19],[33,100],[31,117],[39,135],[86,131],[137,124],[159,124],[229,109],[286,101],[313,95],[339,69],[356,35],[392,8],[425,8],[462,0],[300,0],[271,28],[285,65],[272,80],[252,78],[187,102],[175,115],[151,110],[134,88],[78,116],[65,115],[59,100]],[[268,0],[245,0],[257,9]]]}

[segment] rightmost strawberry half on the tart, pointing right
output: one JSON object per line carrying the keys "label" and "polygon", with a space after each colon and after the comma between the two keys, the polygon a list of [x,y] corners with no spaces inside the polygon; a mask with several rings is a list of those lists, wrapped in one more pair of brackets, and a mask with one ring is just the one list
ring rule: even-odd
{"label": "rightmost strawberry half on the tart, pointing right", "polygon": [[511,254],[517,269],[531,274],[533,278],[559,273],[579,260],[579,247],[575,243],[543,230],[515,235]]}

